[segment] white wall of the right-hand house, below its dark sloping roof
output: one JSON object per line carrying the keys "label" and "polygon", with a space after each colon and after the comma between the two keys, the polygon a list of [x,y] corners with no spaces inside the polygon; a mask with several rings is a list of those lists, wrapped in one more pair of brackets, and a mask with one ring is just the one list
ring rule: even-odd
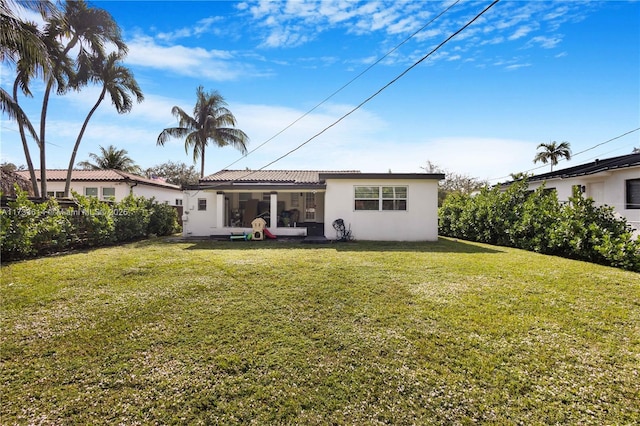
{"label": "white wall of the right-hand house, below its dark sloping roof", "polygon": [[[555,188],[558,200],[566,201],[572,195],[574,185],[585,187],[584,195],[593,198],[596,205],[607,205],[625,217],[627,222],[640,234],[640,209],[626,208],[626,181],[640,178],[640,167],[630,167],[621,170],[611,170],[588,176],[578,176],[567,179],[549,179],[545,188]],[[535,190],[542,182],[530,182],[529,189]]]}

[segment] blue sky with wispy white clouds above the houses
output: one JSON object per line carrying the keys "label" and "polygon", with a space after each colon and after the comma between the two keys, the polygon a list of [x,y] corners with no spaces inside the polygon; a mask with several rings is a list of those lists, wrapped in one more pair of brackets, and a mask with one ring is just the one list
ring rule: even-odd
{"label": "blue sky with wispy white clouds above the houses", "polygon": [[[489,1],[463,1],[247,157],[212,147],[206,173],[258,169],[307,141],[392,81]],[[191,164],[184,143],[157,147],[171,108],[192,111],[199,85],[227,100],[254,149],[427,24],[452,1],[96,1],[121,26],[145,101],[118,115],[105,100],[77,161],[98,146],[142,167]],[[36,17],[34,17],[35,19]],[[502,0],[363,107],[270,169],[421,172],[428,161],[492,183],[548,166],[541,142],[568,141],[572,166],[640,146],[640,3]],[[13,71],[1,69],[10,89]],[[38,117],[42,85],[24,108]],[[98,87],[57,97],[48,168],[66,168]],[[24,164],[2,118],[3,161]],[[598,146],[599,145],[599,146]],[[595,148],[593,148],[595,147]],[[593,148],[593,149],[591,149]],[[581,151],[586,152],[579,154]],[[37,158],[35,144],[32,156]],[[197,167],[199,169],[199,166]]]}

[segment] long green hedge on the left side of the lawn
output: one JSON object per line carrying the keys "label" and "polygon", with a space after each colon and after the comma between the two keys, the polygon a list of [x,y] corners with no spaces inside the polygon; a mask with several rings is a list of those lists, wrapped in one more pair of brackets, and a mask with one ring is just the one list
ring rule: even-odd
{"label": "long green hedge on the left side of the lawn", "polygon": [[179,232],[176,210],[155,200],[129,195],[103,202],[73,193],[72,206],[54,198],[34,202],[17,190],[1,211],[3,260],[18,260],[64,250],[134,241]]}

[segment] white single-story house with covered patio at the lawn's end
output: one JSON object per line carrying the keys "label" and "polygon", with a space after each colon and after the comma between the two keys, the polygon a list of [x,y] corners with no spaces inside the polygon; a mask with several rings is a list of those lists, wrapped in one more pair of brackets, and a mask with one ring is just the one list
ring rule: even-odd
{"label": "white single-story house with covered patio at the lawn's end", "polygon": [[[251,233],[256,217],[276,236],[337,237],[342,219],[358,240],[438,239],[443,174],[222,170],[185,190],[185,236]],[[271,220],[275,218],[275,220]]]}

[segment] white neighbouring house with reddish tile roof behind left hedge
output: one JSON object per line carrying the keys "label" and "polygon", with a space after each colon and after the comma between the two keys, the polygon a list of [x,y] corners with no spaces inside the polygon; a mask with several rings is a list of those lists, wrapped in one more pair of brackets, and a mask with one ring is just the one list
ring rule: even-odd
{"label": "white neighbouring house with reddish tile roof behind left hedge", "polygon": [[[29,179],[28,171],[18,173]],[[40,170],[36,170],[36,176],[40,182]],[[61,198],[64,195],[66,179],[66,170],[47,170],[47,195]],[[120,170],[74,170],[71,175],[71,190],[101,200],[120,201],[133,194],[145,198],[153,197],[158,203],[171,206],[182,205],[182,190],[179,186]]]}

